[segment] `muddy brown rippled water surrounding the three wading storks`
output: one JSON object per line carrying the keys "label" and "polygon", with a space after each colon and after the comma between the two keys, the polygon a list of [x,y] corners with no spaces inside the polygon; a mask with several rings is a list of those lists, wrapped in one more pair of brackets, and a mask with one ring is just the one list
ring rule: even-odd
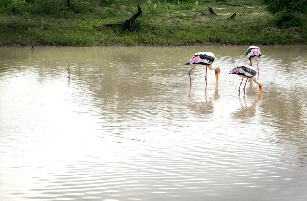
{"label": "muddy brown rippled water surrounding the three wading storks", "polygon": [[307,46],[261,46],[262,96],[246,49],[1,47],[0,200],[306,200]]}

